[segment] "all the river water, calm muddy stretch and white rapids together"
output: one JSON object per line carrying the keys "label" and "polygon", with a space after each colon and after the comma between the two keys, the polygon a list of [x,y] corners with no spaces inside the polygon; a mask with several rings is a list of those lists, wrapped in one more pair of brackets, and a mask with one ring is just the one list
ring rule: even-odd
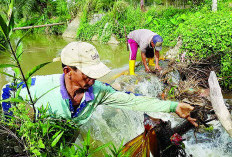
{"label": "all the river water, calm muddy stretch and white rapids together", "polygon": [[[15,39],[15,42],[17,39]],[[52,61],[58,57],[62,48],[69,42],[70,39],[63,39],[60,36],[43,36],[34,35],[25,37],[23,40],[24,54],[22,56],[22,68],[26,72],[34,66]],[[128,69],[129,52],[126,51],[126,46],[121,45],[106,45],[98,42],[92,43],[99,51],[101,60],[112,69],[112,73],[101,79],[104,82],[110,82],[111,77]],[[138,53],[137,61],[141,60]],[[0,53],[0,63],[9,63],[10,58],[7,55]],[[13,73],[12,69],[4,69],[4,72]],[[42,68],[35,75],[48,75],[62,73],[61,63],[54,62]],[[0,74],[0,88],[10,78]],[[152,82],[152,83],[151,83]],[[143,80],[136,85],[136,92],[143,95],[156,96],[157,91],[162,90],[162,84],[157,81],[157,78],[151,78],[150,81]],[[231,95],[227,96],[231,99]],[[172,126],[181,123],[183,120],[172,114],[167,113],[148,113],[155,118],[170,120]],[[119,146],[121,141],[124,143],[138,136],[144,131],[143,128],[143,112],[134,112],[128,110],[114,109],[110,107],[100,106],[86,125],[82,126],[82,132],[88,129],[95,140],[100,143],[113,141],[116,146]],[[214,130],[212,132],[196,133],[197,141],[194,138],[194,132],[189,131],[184,137],[186,141],[186,151],[194,157],[231,157],[232,156],[232,138],[223,130],[220,123],[213,122]],[[78,141],[77,141],[78,143]]]}

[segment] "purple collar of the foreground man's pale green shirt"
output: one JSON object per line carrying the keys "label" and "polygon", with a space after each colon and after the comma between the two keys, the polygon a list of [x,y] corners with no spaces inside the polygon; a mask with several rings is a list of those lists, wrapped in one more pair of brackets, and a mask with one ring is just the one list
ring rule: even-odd
{"label": "purple collar of the foreground man's pale green shirt", "polygon": [[[60,93],[62,95],[63,99],[70,99],[68,92],[65,87],[65,82],[64,82],[64,74],[60,76]],[[89,87],[88,90],[85,92],[85,101],[91,101],[94,99],[94,94],[93,94],[93,87]]]}

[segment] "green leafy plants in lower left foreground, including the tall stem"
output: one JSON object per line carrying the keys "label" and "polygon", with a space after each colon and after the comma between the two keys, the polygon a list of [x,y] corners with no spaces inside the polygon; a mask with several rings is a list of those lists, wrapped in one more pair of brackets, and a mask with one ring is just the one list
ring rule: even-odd
{"label": "green leafy plants in lower left foreground, including the tall stem", "polygon": [[[94,156],[96,152],[105,149],[109,144],[104,144],[98,148],[92,148],[92,143],[90,142],[91,134],[88,132],[86,140],[82,143],[82,147],[78,146],[72,143],[76,138],[74,135],[78,131],[78,126],[71,119],[54,119],[52,117],[55,116],[47,114],[48,107],[44,108],[43,106],[38,108],[39,114],[36,115],[34,104],[40,97],[32,99],[29,90],[32,82],[31,77],[36,71],[50,62],[42,63],[32,68],[26,75],[24,74],[21,68],[21,56],[23,55],[21,41],[23,37],[17,41],[15,48],[10,40],[10,35],[14,27],[12,8],[13,1],[11,1],[8,14],[10,19],[9,22],[5,22],[0,15],[1,32],[8,42],[10,50],[3,45],[1,46],[6,52],[11,54],[11,58],[14,61],[14,63],[0,64],[0,68],[11,67],[15,72],[14,75],[2,72],[4,75],[12,77],[13,81],[11,84],[7,85],[9,87],[7,90],[11,90],[12,93],[7,95],[7,97],[9,96],[8,98],[0,100],[0,102],[11,102],[13,106],[9,108],[9,111],[1,113],[1,115],[6,115],[1,117],[0,127],[4,129],[3,131],[10,133],[11,136],[17,139],[20,145],[23,146],[24,152],[17,155]],[[26,86],[27,88],[29,101],[23,100],[20,97],[22,86]],[[49,91],[46,91],[44,94]],[[11,115],[12,113],[13,115]]]}

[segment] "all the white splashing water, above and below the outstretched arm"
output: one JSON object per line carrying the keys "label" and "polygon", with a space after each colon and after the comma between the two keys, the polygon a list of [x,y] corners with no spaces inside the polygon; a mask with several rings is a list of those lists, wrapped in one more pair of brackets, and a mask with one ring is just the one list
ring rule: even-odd
{"label": "all the white splashing water, above and below the outstretched arm", "polygon": [[[117,80],[123,82],[123,90],[128,86],[134,85],[136,82],[131,78]],[[151,83],[152,82],[152,83]],[[122,84],[121,84],[122,85]],[[147,96],[157,96],[163,90],[163,84],[155,76],[146,79],[140,79],[139,83],[133,86],[136,93]],[[127,143],[131,139],[144,132],[143,116],[144,112],[121,110],[109,106],[98,106],[93,113],[91,119],[81,126],[80,137],[76,143],[80,144],[81,136],[84,136],[88,130],[91,131],[92,138],[96,143],[105,144],[113,142],[115,146]],[[146,112],[154,118],[160,118],[164,121],[171,121],[172,127],[183,123],[183,119],[177,117],[175,114],[169,113],[154,113]],[[230,157],[232,156],[232,139],[221,127],[218,121],[212,123],[214,130],[212,132],[204,131],[203,133],[196,133],[190,130],[183,137],[185,150],[188,155],[193,157]]]}

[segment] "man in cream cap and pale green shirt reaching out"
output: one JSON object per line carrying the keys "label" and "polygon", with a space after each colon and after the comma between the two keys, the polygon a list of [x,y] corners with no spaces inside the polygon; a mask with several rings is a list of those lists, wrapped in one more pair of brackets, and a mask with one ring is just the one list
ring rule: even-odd
{"label": "man in cream cap and pale green shirt reaching out", "polygon": [[[190,117],[193,107],[188,104],[127,94],[96,80],[109,73],[110,69],[100,61],[96,48],[89,43],[69,43],[61,52],[61,62],[63,74],[36,76],[32,79],[31,95],[39,98],[35,103],[36,112],[43,106],[53,117],[72,119],[82,125],[89,120],[98,105],[107,105],[145,112],[176,112],[197,125],[195,119]],[[10,92],[11,89],[6,85],[3,99],[9,98]],[[28,98],[24,87],[20,96]],[[11,104],[2,103],[2,107],[7,113]]]}

